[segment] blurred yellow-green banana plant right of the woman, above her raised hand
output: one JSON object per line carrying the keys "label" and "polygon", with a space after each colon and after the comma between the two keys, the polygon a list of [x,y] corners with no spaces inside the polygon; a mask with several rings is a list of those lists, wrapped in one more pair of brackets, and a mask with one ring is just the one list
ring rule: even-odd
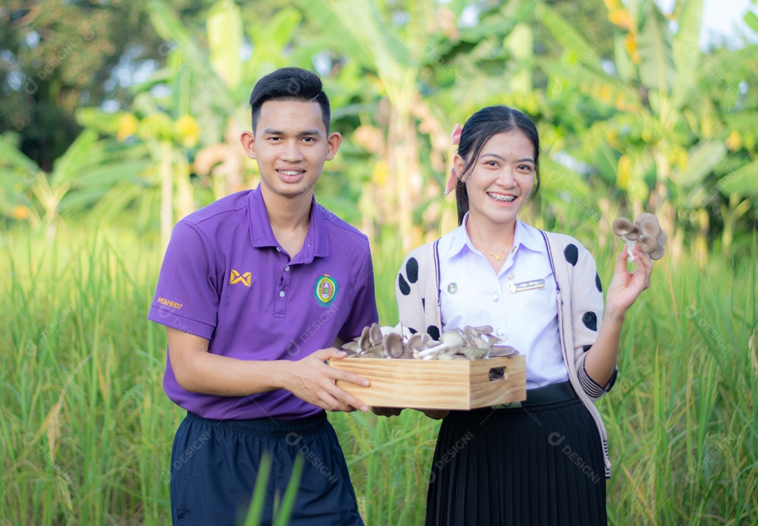
{"label": "blurred yellow-green banana plant right of the woman, above her raised hand", "polygon": [[[615,199],[625,199],[632,215],[659,214],[676,233],[672,248],[681,248],[684,230],[694,230],[704,251],[709,214],[703,207],[731,188],[727,179],[743,181],[755,171],[730,175],[755,166],[748,123],[756,111],[758,65],[748,57],[758,46],[703,53],[702,0],[680,0],[669,15],[675,25],[653,2],[607,0],[606,6],[616,26],[613,62],[601,60],[550,8],[537,11],[565,49],[561,61],[540,61],[550,74],[547,95],[565,152],[586,163],[595,183],[618,193]],[[743,136],[752,146],[738,152]],[[716,192],[703,200],[714,185]],[[747,193],[726,198],[732,219],[751,206],[744,204]],[[731,234],[722,240],[728,246]]]}

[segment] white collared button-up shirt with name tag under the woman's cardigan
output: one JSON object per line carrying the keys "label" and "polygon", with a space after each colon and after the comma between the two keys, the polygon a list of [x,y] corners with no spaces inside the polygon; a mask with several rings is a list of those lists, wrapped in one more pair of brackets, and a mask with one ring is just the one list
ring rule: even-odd
{"label": "white collared button-up shirt with name tag under the woman's cardigan", "polygon": [[558,329],[556,280],[540,231],[516,221],[513,248],[495,274],[463,224],[440,239],[443,330],[491,325],[526,356],[526,387],[568,380]]}

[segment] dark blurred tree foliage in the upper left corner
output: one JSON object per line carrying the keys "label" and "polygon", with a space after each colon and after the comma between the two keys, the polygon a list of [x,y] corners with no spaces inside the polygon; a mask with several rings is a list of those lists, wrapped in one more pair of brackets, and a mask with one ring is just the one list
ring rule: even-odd
{"label": "dark blurred tree foliage in the upper left corner", "polygon": [[144,2],[29,2],[0,7],[0,133],[45,171],[81,130],[76,108],[124,99],[139,65],[160,58]]}

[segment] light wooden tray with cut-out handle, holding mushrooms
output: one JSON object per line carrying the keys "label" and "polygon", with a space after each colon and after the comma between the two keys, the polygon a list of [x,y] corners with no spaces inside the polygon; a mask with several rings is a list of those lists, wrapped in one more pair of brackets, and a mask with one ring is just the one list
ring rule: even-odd
{"label": "light wooden tray with cut-out handle, holding mushrooms", "polygon": [[[376,407],[475,409],[526,399],[524,355],[449,361],[343,358],[330,365],[368,378],[369,387],[339,380],[337,386]],[[503,368],[502,379],[490,380],[493,368]]]}

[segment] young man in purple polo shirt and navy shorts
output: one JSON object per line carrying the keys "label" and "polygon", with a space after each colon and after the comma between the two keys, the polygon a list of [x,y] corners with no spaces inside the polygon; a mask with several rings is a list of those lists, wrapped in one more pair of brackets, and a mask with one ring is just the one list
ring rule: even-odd
{"label": "young man in purple polo shirt and navy shorts", "polygon": [[368,240],[316,204],[340,147],[321,80],[287,67],[250,95],[240,140],[261,183],[189,214],[171,236],[148,318],[168,332],[164,390],[187,410],[171,451],[174,524],[236,524],[271,456],[265,524],[305,456],[290,524],[363,524],[324,409],[366,412],[330,368],[377,321]]}

